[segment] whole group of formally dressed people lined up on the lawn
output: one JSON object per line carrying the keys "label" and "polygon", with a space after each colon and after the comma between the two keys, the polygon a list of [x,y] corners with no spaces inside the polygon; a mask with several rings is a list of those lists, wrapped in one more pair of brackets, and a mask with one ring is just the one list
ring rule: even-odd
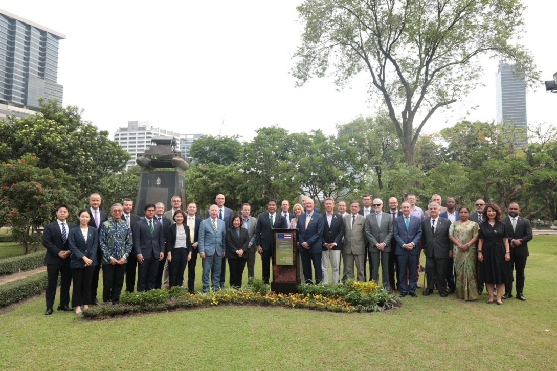
{"label": "whole group of formally dressed people lined up on the lawn", "polygon": [[[250,204],[243,204],[235,215],[224,206],[225,197],[216,196],[206,219],[197,216],[197,205],[189,202],[182,210],[182,199],[173,196],[172,209],[162,202],[144,206],[145,217],[132,213],[133,201],[111,205],[110,217],[101,211],[101,196],[91,194],[90,207],[77,214],[79,225],[67,221],[69,207],[56,207],[56,220],[45,226],[43,245],[47,253],[46,314],[53,313],[58,277],[61,279],[58,310],[82,309],[99,303],[97,287],[102,267],[102,301],[118,303],[121,290],[152,290],[184,284],[195,293],[196,264],[202,259],[202,290],[224,286],[226,262],[229,284],[240,287],[247,265],[248,283],[255,276],[256,255],[261,256],[262,279],[271,278],[273,229],[296,229],[300,280],[306,283],[336,284],[349,279],[379,283],[401,296],[416,297],[419,288],[421,251],[426,256],[427,285],[423,295],[434,289],[439,295],[456,293],[465,300],[478,299],[483,284],[488,304],[502,304],[512,297],[512,272],[516,270],[516,297],[523,295],[527,242],[532,239],[530,222],[518,214],[519,205],[509,205],[509,216],[502,219],[497,205],[476,201],[476,211],[449,197],[446,207],[441,196],[433,195],[424,212],[417,198],[408,194],[400,205],[396,197],[383,201],[364,195],[360,200],[324,200],[325,212],[315,210],[309,196],[302,196],[290,212],[290,202],[269,200],[267,210],[256,219]],[[349,211],[347,208],[349,207]],[[340,266],[343,265],[343,274]],[[355,272],[354,272],[355,266]],[[329,280],[329,269],[331,280]],[[136,281],[137,276],[137,282]],[[74,280],[70,307],[70,284]],[[396,279],[396,282],[395,282]],[[505,291],[505,294],[503,294]],[[497,298],[494,298],[496,292]],[[72,307],[74,309],[72,309]]]}

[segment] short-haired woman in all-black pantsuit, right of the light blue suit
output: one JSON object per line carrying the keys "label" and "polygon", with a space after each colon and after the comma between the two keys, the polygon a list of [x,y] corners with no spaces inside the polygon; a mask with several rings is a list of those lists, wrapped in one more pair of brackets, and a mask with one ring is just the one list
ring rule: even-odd
{"label": "short-haired woman in all-black pantsuit, right of the light blue suit", "polygon": [[230,268],[230,286],[240,288],[242,286],[243,270],[246,267],[247,244],[250,238],[247,229],[242,228],[242,218],[234,215],[230,221],[232,225],[226,231],[226,257]]}

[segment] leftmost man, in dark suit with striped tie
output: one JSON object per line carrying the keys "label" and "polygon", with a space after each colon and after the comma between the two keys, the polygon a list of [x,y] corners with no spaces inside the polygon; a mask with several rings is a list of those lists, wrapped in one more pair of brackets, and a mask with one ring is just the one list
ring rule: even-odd
{"label": "leftmost man, in dark suit with striped tie", "polygon": [[71,311],[70,308],[70,251],[68,247],[68,233],[76,225],[67,222],[68,206],[56,206],[56,220],[45,226],[42,233],[42,244],[46,248],[46,315],[52,314],[52,306],[56,298],[56,286],[58,275],[61,276],[60,283],[60,305],[58,310]]}

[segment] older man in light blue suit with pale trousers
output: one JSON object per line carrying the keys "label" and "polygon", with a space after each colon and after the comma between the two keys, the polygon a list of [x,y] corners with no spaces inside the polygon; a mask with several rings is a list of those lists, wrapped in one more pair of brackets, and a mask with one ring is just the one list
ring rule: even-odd
{"label": "older man in light blue suit with pale trousers", "polygon": [[203,259],[203,292],[209,291],[209,273],[213,281],[213,289],[221,288],[221,266],[225,253],[226,224],[218,219],[218,206],[211,205],[209,217],[199,225],[199,255]]}

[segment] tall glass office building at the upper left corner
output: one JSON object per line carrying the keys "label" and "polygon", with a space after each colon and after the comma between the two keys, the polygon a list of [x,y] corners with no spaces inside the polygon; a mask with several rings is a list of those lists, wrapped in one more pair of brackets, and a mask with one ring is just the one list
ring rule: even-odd
{"label": "tall glass office building at the upper left corner", "polygon": [[38,98],[62,105],[56,83],[58,41],[66,37],[0,9],[0,105],[38,110]]}

